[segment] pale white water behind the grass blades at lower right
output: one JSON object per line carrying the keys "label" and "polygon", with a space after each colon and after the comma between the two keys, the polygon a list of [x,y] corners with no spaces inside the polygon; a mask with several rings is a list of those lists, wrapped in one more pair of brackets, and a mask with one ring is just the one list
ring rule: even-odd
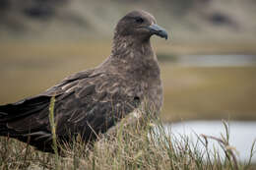
{"label": "pale white water behind the grass blades at lower right", "polygon": [[[240,122],[231,121],[229,124],[229,144],[234,146],[238,151],[239,161],[248,161],[252,143],[256,140],[256,122]],[[198,137],[195,135],[207,135],[221,138],[224,135],[224,124],[222,121],[191,121],[182,123],[167,124],[164,126],[167,132],[174,134],[177,140],[181,141],[181,136],[185,135],[196,143]],[[204,149],[203,143],[199,142],[199,147]],[[218,142],[209,140],[209,148],[214,151],[214,147],[222,150]],[[254,149],[256,151],[256,149]],[[224,151],[220,151],[224,157]],[[256,162],[256,155],[252,157],[252,161]]]}

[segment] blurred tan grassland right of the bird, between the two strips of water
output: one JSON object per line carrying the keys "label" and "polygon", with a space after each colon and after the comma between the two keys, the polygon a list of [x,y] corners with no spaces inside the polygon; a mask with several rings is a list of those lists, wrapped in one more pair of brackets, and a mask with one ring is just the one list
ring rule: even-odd
{"label": "blurred tan grassland right of the bird, between the two strips of water", "polygon": [[256,67],[162,65],[166,122],[191,119],[256,120]]}

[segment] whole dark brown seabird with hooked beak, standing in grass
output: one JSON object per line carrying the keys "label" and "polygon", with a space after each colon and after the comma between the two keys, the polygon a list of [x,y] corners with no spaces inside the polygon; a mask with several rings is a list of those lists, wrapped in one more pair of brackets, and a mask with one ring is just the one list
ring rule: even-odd
{"label": "whole dark brown seabird with hooked beak, standing in grass", "polygon": [[81,135],[84,142],[94,142],[146,100],[160,112],[162,85],[152,35],[168,37],[150,13],[129,12],[114,28],[110,55],[96,68],[71,75],[35,96],[1,105],[0,136],[53,152],[48,117],[52,97],[60,141]]}

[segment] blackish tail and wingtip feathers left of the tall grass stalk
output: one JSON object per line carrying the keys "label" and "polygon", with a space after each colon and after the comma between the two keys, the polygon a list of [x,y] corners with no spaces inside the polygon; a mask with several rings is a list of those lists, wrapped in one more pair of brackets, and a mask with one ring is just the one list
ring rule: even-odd
{"label": "blackish tail and wingtip feathers left of the tall grass stalk", "polygon": [[28,142],[30,137],[30,144],[51,152],[51,133],[45,131],[43,123],[34,120],[37,114],[47,115],[49,102],[50,96],[40,95],[0,105],[0,136],[8,136],[22,142]]}

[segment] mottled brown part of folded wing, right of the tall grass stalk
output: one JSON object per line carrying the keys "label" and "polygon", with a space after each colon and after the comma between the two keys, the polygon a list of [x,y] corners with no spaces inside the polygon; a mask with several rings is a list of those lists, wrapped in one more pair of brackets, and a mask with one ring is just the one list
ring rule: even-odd
{"label": "mottled brown part of folded wing, right of the tall grass stalk", "polygon": [[139,85],[118,74],[93,74],[62,88],[66,92],[55,103],[58,135],[67,129],[86,139],[104,133],[140,104]]}

